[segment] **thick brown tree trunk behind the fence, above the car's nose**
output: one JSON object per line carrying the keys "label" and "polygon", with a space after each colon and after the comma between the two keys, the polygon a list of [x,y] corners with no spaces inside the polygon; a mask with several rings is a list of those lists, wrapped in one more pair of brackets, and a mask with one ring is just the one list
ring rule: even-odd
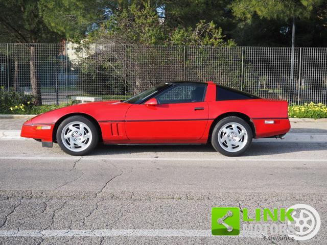
{"label": "thick brown tree trunk behind the fence, above the car's nose", "polygon": [[34,104],[36,106],[42,105],[41,91],[39,87],[39,82],[37,79],[36,70],[36,46],[30,46],[30,78],[32,85],[32,94],[35,96]]}

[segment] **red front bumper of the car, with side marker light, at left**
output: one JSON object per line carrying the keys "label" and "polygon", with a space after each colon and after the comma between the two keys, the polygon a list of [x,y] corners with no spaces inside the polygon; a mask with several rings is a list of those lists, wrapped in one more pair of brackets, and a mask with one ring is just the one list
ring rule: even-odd
{"label": "red front bumper of the car, with side marker light, at left", "polygon": [[52,142],[54,124],[24,124],[20,136],[25,138],[40,139],[43,142]]}

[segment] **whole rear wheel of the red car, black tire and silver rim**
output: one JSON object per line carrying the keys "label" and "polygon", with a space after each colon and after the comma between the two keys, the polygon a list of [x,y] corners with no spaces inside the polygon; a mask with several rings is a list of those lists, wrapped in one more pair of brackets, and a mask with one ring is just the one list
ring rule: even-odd
{"label": "whole rear wheel of the red car, black tire and silver rim", "polygon": [[218,121],[212,133],[215,150],[229,157],[243,154],[251,145],[252,130],[245,120],[228,116]]}

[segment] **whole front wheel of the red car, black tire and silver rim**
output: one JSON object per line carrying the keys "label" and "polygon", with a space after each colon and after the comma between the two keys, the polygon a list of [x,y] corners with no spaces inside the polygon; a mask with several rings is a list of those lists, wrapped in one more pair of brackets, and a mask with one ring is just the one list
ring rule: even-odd
{"label": "whole front wheel of the red car, black tire and silver rim", "polygon": [[84,116],[64,119],[57,130],[60,148],[70,155],[83,156],[90,153],[99,142],[99,132],[92,121]]}

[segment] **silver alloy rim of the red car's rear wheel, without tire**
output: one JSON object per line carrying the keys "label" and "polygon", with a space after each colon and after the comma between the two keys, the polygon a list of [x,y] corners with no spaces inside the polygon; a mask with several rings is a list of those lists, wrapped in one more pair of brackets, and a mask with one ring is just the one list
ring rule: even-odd
{"label": "silver alloy rim of the red car's rear wheel, without tire", "polygon": [[238,122],[228,122],[218,132],[218,142],[227,152],[238,152],[247,143],[246,129]]}

